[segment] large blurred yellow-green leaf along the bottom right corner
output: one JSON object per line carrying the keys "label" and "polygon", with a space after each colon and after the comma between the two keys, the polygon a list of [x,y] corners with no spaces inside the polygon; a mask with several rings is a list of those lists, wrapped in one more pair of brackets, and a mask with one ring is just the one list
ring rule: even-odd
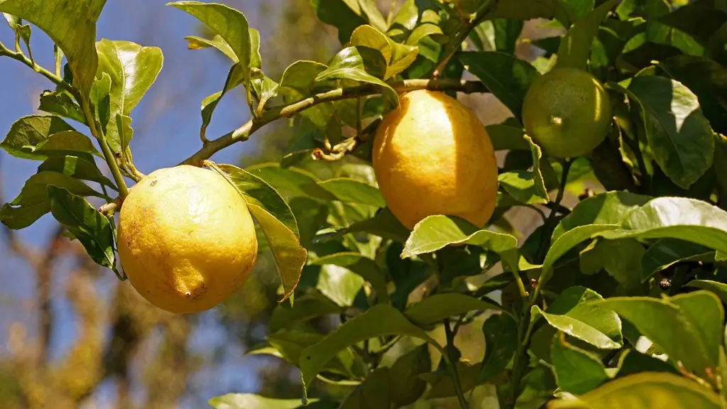
{"label": "large blurred yellow-green leaf along the bottom right corner", "polygon": [[637,373],[617,378],[601,387],[578,397],[578,401],[561,399],[550,402],[548,409],[718,409],[720,397],[683,376],[671,373]]}

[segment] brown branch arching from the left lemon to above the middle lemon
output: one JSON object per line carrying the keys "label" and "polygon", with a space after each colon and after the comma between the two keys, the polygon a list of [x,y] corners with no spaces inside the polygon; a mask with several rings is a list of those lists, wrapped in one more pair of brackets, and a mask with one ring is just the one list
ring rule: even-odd
{"label": "brown branch arching from the left lemon to above the middle lemon", "polygon": [[[487,88],[481,82],[475,81],[459,81],[457,79],[407,79],[402,82],[390,84],[396,92],[409,92],[414,90],[432,90],[432,91],[459,91],[465,94],[473,94],[475,92],[488,92]],[[255,131],[264,127],[270,122],[280,118],[289,118],[295,114],[305,111],[306,109],[316,106],[320,103],[332,102],[337,100],[345,100],[348,98],[359,98],[365,95],[381,94],[380,87],[373,85],[361,85],[359,87],[337,88],[336,90],[321,92],[310,96],[296,103],[286,106],[270,108],[265,111],[260,118],[250,119],[241,127],[222,135],[220,138],[210,140],[204,144],[202,148],[181,164],[192,164],[200,166],[202,161],[209,159],[217,151],[220,151],[236,142],[248,140],[250,135]]]}

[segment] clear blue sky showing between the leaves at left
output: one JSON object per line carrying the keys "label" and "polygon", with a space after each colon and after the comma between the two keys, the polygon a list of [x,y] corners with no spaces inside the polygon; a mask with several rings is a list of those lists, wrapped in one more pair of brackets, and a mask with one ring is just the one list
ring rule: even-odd
{"label": "clear blue sky showing between the leaves at left", "polygon": [[[250,25],[265,29],[260,22],[257,0],[218,0],[243,11]],[[145,173],[159,167],[169,167],[190,156],[200,148],[198,130],[201,122],[199,107],[201,100],[217,92],[225,82],[230,63],[211,49],[188,50],[184,36],[196,33],[198,22],[178,9],[166,7],[161,0],[108,1],[97,25],[97,39],[123,39],[144,46],[161,47],[164,52],[164,68],[156,84],[135,108],[134,140],[132,151],[134,162]],[[274,9],[275,7],[270,7]],[[0,41],[6,47],[12,46],[12,32],[0,21]],[[36,62],[47,68],[53,66],[52,42],[37,28],[33,28],[31,47]],[[37,114],[38,97],[43,90],[54,86],[30,68],[15,60],[0,57],[0,137],[15,120],[21,116]],[[249,111],[239,93],[228,95],[217,108],[208,137],[222,135],[246,122]],[[78,128],[87,132],[86,128]],[[217,162],[236,162],[252,143],[240,143],[214,156]],[[11,200],[23,187],[25,180],[36,171],[39,162],[15,159],[4,151],[0,152],[0,174],[2,194]],[[43,247],[55,222],[47,215],[28,229],[19,232],[20,237],[36,247]],[[3,238],[0,238],[2,240]],[[68,267],[68,266],[66,266]],[[116,278],[111,271],[105,271],[100,291],[108,293]],[[52,308],[60,321],[52,339],[55,356],[62,354],[74,336],[75,317],[68,303],[63,300],[63,266],[55,272],[54,298]],[[31,269],[20,259],[0,246],[0,342],[5,344],[7,327],[14,321],[28,325],[28,334],[35,335],[33,308],[28,308],[34,290]],[[204,333],[193,337],[193,345],[222,342],[219,329],[207,327]],[[0,353],[5,352],[0,349]],[[241,352],[235,352],[241,357]],[[215,393],[252,391],[255,379],[246,376],[249,370],[240,368],[240,362],[247,365],[250,360],[231,360],[229,368],[201,376],[200,386],[205,388],[204,398]],[[252,372],[254,373],[254,372]],[[105,388],[111,391],[111,388]],[[109,392],[111,393],[111,392]]]}

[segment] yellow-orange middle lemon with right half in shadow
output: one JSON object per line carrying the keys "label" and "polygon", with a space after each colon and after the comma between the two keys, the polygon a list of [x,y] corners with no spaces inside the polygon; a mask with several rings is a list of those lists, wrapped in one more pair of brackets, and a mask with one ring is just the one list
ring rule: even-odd
{"label": "yellow-orange middle lemon with right half in shadow", "polygon": [[374,137],[379,188],[409,229],[429,215],[454,215],[478,227],[497,199],[497,162],[484,125],[442,92],[401,96]]}

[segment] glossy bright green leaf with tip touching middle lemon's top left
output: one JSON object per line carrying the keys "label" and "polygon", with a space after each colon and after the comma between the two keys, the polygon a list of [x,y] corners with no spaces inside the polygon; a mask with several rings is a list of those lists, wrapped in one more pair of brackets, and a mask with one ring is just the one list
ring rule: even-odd
{"label": "glossy bright green leaf with tip touching middle lemon's top left", "polygon": [[396,91],[382,80],[371,76],[364,68],[364,60],[356,47],[346,47],[333,57],[329,68],[316,76],[316,83],[332,80],[349,80],[381,87],[382,95],[392,106],[398,106]]}

